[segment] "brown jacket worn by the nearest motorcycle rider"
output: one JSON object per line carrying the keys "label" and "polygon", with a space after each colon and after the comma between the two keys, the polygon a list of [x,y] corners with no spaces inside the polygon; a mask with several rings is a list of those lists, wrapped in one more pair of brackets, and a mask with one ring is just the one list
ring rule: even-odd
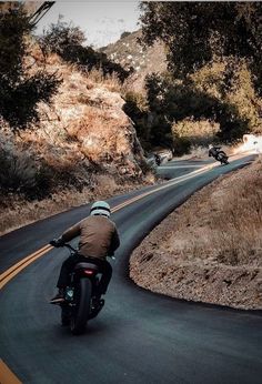
{"label": "brown jacket worn by the nearest motorcycle rider", "polygon": [[120,245],[115,224],[101,215],[88,216],[63,232],[62,240],[79,239],[79,253],[83,256],[105,259]]}

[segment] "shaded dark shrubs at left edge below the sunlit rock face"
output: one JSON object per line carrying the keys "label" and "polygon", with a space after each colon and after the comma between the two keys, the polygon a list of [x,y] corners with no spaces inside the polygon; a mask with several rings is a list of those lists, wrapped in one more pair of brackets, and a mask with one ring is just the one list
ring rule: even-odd
{"label": "shaded dark shrubs at left edge below the sunlit rock face", "polygon": [[0,151],[0,194],[20,194],[41,200],[52,192],[72,186],[81,191],[89,184],[87,170],[73,159],[36,159],[27,151],[2,148]]}

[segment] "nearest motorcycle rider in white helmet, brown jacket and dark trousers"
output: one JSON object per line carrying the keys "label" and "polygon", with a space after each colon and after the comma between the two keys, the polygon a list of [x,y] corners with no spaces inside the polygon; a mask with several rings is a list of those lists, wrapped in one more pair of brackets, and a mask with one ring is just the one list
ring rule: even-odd
{"label": "nearest motorcycle rider in white helmet, brown jacket and dark trousers", "polygon": [[70,272],[77,263],[88,260],[99,266],[102,273],[100,294],[105,294],[112,276],[112,266],[107,261],[107,255],[112,255],[120,245],[117,226],[109,219],[110,213],[110,205],[105,201],[97,201],[91,206],[90,216],[71,226],[59,239],[51,242],[53,246],[63,246],[64,243],[80,236],[79,253],[69,256],[63,262],[57,284],[59,292],[50,303],[64,301],[64,290],[69,285]]}

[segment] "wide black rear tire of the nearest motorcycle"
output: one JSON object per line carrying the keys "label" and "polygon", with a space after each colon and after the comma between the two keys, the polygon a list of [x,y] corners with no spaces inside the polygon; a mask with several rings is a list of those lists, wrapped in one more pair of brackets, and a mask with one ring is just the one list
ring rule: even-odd
{"label": "wide black rear tire of the nearest motorcycle", "polygon": [[92,283],[89,279],[80,279],[75,292],[75,309],[70,320],[72,334],[79,335],[84,332],[89,319],[92,296]]}

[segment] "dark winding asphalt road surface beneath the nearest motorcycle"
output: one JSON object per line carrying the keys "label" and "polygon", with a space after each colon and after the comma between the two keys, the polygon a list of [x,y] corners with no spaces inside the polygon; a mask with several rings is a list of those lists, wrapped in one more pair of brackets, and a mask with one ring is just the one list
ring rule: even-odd
{"label": "dark winding asphalt road surface beneath the nearest motorcycle", "polygon": [[[17,377],[32,384],[261,384],[261,312],[173,300],[142,290],[128,277],[130,253],[155,224],[195,190],[249,160],[110,200],[117,206],[144,195],[112,215],[121,247],[104,309],[84,335],[72,336],[61,327],[59,309],[48,304],[67,250],[48,252],[4,285],[0,356]],[[0,271],[87,213],[81,206],[0,238]]]}

